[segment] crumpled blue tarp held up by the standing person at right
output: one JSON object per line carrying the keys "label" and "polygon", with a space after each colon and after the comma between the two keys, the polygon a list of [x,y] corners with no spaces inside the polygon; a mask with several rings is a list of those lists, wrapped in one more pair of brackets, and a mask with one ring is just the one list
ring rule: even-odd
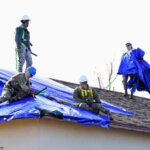
{"label": "crumpled blue tarp held up by the standing person at right", "polygon": [[131,75],[127,87],[134,93],[138,91],[150,92],[150,65],[143,59],[145,52],[133,49],[122,56],[118,74]]}

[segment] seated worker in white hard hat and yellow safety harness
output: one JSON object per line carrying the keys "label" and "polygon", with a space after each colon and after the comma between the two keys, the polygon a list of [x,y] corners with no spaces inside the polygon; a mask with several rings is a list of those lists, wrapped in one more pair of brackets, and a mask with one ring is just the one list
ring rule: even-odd
{"label": "seated worker in white hard hat and yellow safety harness", "polygon": [[110,111],[102,107],[98,94],[88,85],[87,77],[82,75],[79,82],[80,86],[76,87],[73,92],[73,98],[78,102],[78,107],[99,115],[107,114],[112,120]]}

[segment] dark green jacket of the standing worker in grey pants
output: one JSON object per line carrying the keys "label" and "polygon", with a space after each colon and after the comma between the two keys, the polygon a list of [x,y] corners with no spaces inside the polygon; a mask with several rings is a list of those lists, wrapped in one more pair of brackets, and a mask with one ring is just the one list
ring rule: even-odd
{"label": "dark green jacket of the standing worker in grey pants", "polygon": [[26,47],[30,50],[30,32],[23,25],[16,28],[15,42],[18,49]]}

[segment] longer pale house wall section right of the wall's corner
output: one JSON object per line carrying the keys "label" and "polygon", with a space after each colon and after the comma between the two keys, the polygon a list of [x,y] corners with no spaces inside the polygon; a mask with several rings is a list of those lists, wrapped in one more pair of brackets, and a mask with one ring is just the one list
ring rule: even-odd
{"label": "longer pale house wall section right of the wall's corner", "polygon": [[40,120],[40,150],[147,150],[150,134]]}

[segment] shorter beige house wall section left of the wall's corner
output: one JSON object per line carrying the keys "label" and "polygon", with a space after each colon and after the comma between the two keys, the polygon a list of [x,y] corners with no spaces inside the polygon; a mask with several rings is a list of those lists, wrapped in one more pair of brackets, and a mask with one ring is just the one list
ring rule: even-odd
{"label": "shorter beige house wall section left of the wall's corner", "polygon": [[38,150],[38,122],[36,119],[21,119],[0,123],[1,149]]}

